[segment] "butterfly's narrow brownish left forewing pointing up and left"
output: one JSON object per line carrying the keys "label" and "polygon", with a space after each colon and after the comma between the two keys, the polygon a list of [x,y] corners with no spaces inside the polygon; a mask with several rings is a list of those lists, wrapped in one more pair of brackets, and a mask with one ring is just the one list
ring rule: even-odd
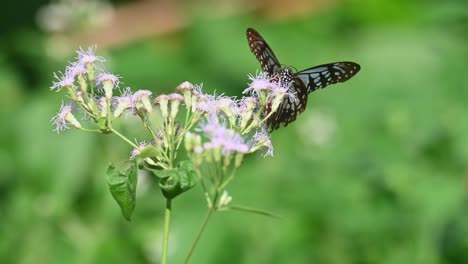
{"label": "butterfly's narrow brownish left forewing pointing up and left", "polygon": [[252,53],[262,65],[263,71],[272,75],[281,69],[281,64],[262,36],[252,28],[247,29],[247,40]]}

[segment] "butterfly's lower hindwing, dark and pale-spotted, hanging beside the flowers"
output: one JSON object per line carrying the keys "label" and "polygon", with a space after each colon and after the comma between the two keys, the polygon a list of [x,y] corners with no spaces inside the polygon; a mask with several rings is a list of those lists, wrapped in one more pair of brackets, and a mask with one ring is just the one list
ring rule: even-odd
{"label": "butterfly's lower hindwing, dark and pale-spotted, hanging beside the flowers", "polygon": [[[304,112],[307,106],[307,89],[299,77],[294,77],[289,92],[294,94],[294,98],[286,96],[278,110],[266,122],[271,130],[278,129],[280,124],[287,126],[289,123],[296,120],[297,116]],[[269,111],[270,109],[267,107],[266,112],[269,113]]]}

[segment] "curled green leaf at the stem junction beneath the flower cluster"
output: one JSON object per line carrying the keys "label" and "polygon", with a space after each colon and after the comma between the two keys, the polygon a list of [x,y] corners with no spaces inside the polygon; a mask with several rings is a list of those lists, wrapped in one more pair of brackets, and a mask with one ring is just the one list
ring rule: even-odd
{"label": "curled green leaf at the stem junction beneath the flower cluster", "polygon": [[191,161],[182,161],[177,168],[154,171],[160,178],[159,186],[163,195],[173,199],[190,190],[197,183],[197,172]]}

